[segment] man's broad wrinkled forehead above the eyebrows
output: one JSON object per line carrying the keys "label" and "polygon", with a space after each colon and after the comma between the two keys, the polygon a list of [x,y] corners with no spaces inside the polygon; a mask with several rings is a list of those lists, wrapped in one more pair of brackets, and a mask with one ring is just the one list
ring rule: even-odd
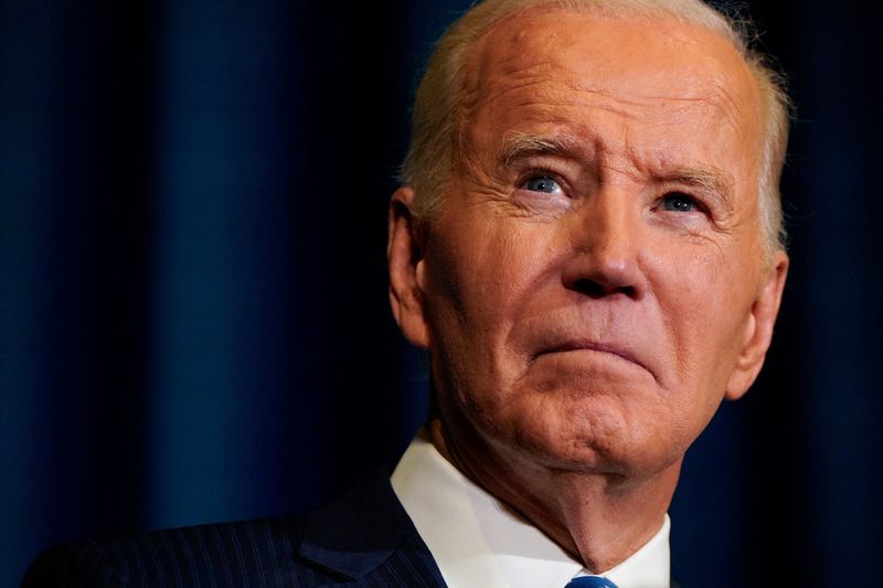
{"label": "man's broad wrinkled forehead above the eyebrows", "polygon": [[759,165],[760,97],[751,71],[726,39],[673,18],[547,8],[509,17],[474,47],[460,104],[477,149],[511,130],[563,125],[629,148],[689,143],[720,151],[717,159],[743,150]]}

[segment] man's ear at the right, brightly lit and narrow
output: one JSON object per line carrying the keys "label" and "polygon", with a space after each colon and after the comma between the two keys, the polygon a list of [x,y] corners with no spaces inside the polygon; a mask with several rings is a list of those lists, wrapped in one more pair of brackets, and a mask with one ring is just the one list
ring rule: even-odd
{"label": "man's ear at the right, brightly lit and narrow", "polygon": [[726,398],[730,400],[737,400],[748,392],[757,374],[760,373],[769,343],[773,341],[773,327],[779,313],[787,276],[788,255],[785,252],[777,252],[768,269],[766,282],[760,288],[757,300],[752,304],[742,353],[726,385]]}

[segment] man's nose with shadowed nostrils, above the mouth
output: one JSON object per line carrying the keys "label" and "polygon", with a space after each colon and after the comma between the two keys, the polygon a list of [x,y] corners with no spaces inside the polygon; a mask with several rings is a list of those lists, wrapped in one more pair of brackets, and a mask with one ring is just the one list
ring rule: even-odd
{"label": "man's nose with shadowed nostrils, above the mouth", "polygon": [[603,190],[576,211],[567,238],[565,288],[591,298],[623,295],[639,299],[646,278],[639,266],[640,210],[634,195]]}

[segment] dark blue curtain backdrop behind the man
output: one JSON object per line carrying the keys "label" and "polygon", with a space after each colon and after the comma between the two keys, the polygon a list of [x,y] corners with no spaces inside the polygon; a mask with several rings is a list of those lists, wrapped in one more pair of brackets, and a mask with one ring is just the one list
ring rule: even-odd
{"label": "dark blue curtain backdrop behind the man", "polygon": [[[386,302],[416,70],[467,0],[0,0],[0,586],[310,507],[425,413]],[[752,2],[799,117],[768,365],[688,455],[685,586],[883,584],[873,4]]]}

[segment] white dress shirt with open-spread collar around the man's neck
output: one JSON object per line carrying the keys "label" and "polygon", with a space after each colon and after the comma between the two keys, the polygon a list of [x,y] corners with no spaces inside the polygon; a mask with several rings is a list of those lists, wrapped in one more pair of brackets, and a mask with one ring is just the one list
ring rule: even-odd
{"label": "white dress shirt with open-spread collar around the man's neck", "polygon": [[[423,432],[391,478],[393,490],[450,588],[564,588],[593,574],[556,543],[466,478]],[[669,530],[625,562],[594,573],[619,588],[669,587]]]}

